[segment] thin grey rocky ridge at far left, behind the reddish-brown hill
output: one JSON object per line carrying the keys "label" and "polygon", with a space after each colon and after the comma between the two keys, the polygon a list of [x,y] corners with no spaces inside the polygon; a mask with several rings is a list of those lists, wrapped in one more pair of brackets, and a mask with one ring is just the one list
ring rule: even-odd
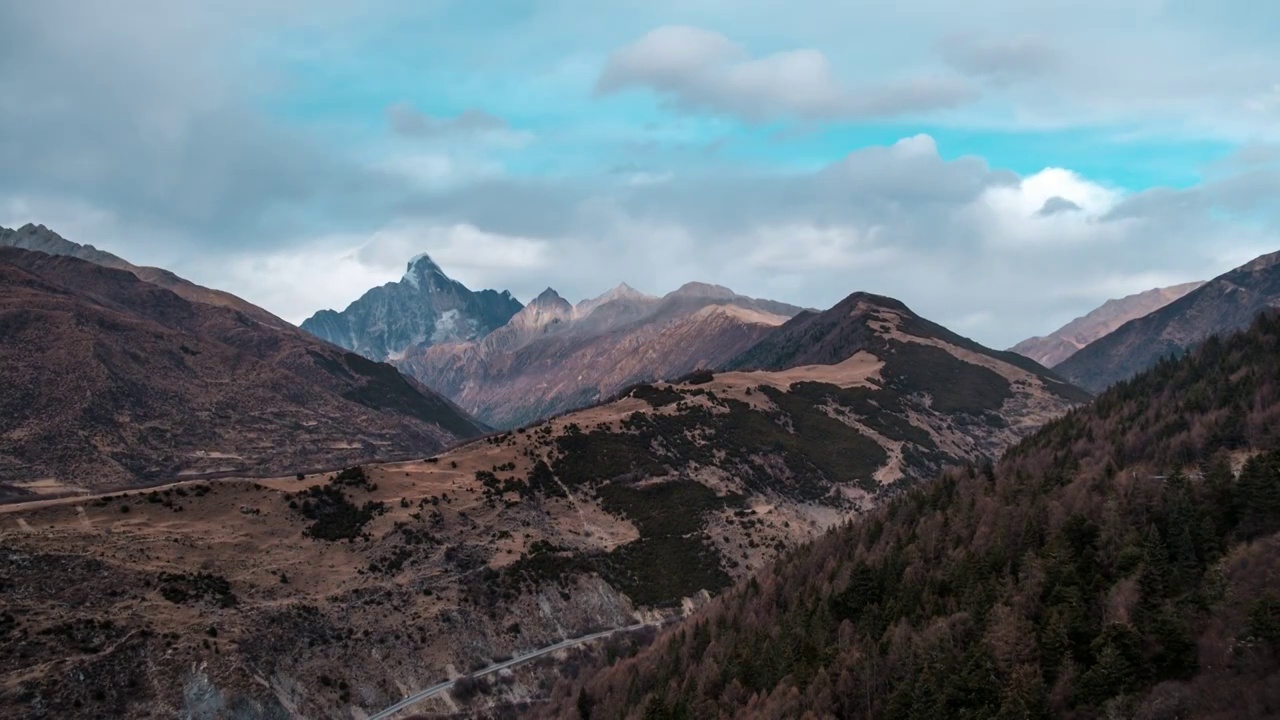
{"label": "thin grey rocky ridge at far left, behind the reddish-brown hill", "polygon": [[285,320],[262,310],[257,305],[246,302],[229,292],[198,286],[163,268],[134,265],[123,258],[99,250],[92,245],[72,242],[45,225],[27,224],[15,231],[0,227],[0,247],[36,250],[47,255],[65,255],[69,258],[87,260],[95,265],[127,270],[142,281],[160,286],[192,302],[230,307],[232,310],[238,310],[262,324],[275,328],[293,327]]}

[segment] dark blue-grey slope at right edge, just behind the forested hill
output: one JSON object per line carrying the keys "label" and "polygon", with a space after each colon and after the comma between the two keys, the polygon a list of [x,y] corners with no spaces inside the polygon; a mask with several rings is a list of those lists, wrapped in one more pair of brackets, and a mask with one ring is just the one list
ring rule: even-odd
{"label": "dark blue-grey slope at right edge, just behind the forested hill", "polygon": [[1276,306],[1280,306],[1280,252],[1263,255],[1120,325],[1055,370],[1098,392],[1151,368],[1161,357],[1187,352],[1212,334],[1247,328],[1260,311]]}

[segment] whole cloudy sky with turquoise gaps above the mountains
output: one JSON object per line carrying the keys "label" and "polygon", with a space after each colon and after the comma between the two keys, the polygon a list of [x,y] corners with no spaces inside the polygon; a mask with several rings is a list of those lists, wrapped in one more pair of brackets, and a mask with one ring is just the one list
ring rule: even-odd
{"label": "whole cloudy sky with turquoise gaps above the mountains", "polygon": [[0,4],[0,225],[301,322],[428,252],[995,347],[1280,250],[1280,4]]}

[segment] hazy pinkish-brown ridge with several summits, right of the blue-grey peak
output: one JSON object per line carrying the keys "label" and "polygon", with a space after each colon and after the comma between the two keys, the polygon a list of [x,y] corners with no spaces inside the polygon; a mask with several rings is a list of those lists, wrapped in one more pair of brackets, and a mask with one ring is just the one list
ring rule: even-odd
{"label": "hazy pinkish-brown ridge with several summits, right of the blue-grey peak", "polygon": [[799,311],[704,283],[660,299],[623,284],[576,306],[548,288],[483,340],[417,347],[399,366],[483,421],[511,428],[640,380],[714,368]]}

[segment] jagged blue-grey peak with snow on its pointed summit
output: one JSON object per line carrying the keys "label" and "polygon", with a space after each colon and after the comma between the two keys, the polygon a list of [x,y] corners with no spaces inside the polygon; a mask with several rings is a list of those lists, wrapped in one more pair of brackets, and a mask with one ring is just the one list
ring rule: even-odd
{"label": "jagged blue-grey peak with snow on its pointed summit", "polygon": [[370,290],[340,313],[321,310],[302,329],[370,360],[398,360],[411,346],[479,340],[520,309],[509,292],[472,292],[419,255],[399,282]]}

